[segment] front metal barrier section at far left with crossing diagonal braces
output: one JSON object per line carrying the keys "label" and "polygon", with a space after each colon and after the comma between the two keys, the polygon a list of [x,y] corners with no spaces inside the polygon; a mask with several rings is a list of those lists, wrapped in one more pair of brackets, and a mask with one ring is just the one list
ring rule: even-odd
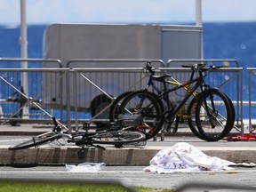
{"label": "front metal barrier section at far left with crossing diagonal braces", "polygon": [[[35,106],[35,103],[51,114],[52,108],[59,108],[60,120],[63,120],[63,116],[67,115],[64,111],[68,98],[60,96],[52,100],[52,90],[57,90],[60,95],[63,77],[68,72],[68,68],[0,68],[1,108],[4,108],[2,120],[43,122],[49,116]],[[24,73],[29,79],[28,92],[23,92],[20,84],[20,76]],[[22,113],[24,108],[29,108],[29,113]]]}

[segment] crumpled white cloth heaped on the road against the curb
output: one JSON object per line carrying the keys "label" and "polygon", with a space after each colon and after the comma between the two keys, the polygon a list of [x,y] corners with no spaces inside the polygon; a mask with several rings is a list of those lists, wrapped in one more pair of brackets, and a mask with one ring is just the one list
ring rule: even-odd
{"label": "crumpled white cloth heaped on the road against the curb", "polygon": [[160,150],[144,172],[172,173],[191,171],[231,170],[228,165],[235,164],[216,156],[206,156],[200,149],[186,142],[176,143],[171,148]]}

